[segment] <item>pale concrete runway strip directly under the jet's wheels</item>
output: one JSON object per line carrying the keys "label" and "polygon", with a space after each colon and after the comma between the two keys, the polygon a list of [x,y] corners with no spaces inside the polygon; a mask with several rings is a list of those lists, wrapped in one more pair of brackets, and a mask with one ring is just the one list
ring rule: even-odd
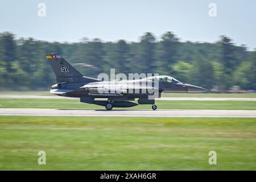
{"label": "pale concrete runway strip directly under the jet's wheels", "polygon": [[242,117],[255,118],[256,110],[147,110],[147,109],[0,109],[0,115],[83,117]]}

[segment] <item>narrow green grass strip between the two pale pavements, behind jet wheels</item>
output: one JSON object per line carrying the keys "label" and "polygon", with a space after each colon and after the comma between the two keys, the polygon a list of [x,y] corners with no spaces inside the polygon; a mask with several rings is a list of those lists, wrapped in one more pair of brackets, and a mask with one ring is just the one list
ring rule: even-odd
{"label": "narrow green grass strip between the two pale pavements, behind jet wheels", "polygon": [[[158,109],[220,109],[255,110],[255,101],[156,101]],[[58,109],[102,109],[103,106],[65,99],[0,98],[0,108],[58,108]],[[129,109],[129,108],[126,108]],[[130,109],[151,109],[150,105],[138,105]]]}

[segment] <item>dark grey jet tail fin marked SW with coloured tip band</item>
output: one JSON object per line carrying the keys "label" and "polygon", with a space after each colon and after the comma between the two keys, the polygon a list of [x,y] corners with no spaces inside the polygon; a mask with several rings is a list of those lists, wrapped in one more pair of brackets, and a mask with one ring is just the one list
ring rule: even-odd
{"label": "dark grey jet tail fin marked SW with coloured tip band", "polygon": [[79,82],[82,74],[72,67],[63,57],[56,54],[46,55],[56,75],[57,82]]}

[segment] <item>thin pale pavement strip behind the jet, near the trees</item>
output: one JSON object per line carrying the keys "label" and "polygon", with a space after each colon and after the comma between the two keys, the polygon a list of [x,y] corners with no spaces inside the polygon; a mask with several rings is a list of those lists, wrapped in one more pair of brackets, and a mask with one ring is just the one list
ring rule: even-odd
{"label": "thin pale pavement strip behind the jet, near the trees", "polygon": [[[30,96],[30,95],[0,95],[0,98],[39,98],[39,99],[67,99],[79,100],[79,98],[60,96]],[[256,101],[256,98],[216,98],[216,97],[162,97],[155,100],[162,101]]]}

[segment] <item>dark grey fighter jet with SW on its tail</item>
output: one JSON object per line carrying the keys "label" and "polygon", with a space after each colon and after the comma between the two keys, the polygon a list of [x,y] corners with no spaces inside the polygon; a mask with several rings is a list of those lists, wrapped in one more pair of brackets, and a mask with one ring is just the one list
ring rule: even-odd
{"label": "dark grey fighter jet with SW on its tail", "polygon": [[[52,85],[50,93],[57,96],[77,97],[80,102],[113,107],[133,107],[142,104],[152,105],[155,110],[155,98],[163,92],[205,92],[207,89],[184,84],[171,76],[151,76],[136,80],[102,80],[83,76],[58,54],[47,54],[57,83]],[[99,100],[100,99],[100,100]],[[138,99],[138,104],[135,102]]]}

